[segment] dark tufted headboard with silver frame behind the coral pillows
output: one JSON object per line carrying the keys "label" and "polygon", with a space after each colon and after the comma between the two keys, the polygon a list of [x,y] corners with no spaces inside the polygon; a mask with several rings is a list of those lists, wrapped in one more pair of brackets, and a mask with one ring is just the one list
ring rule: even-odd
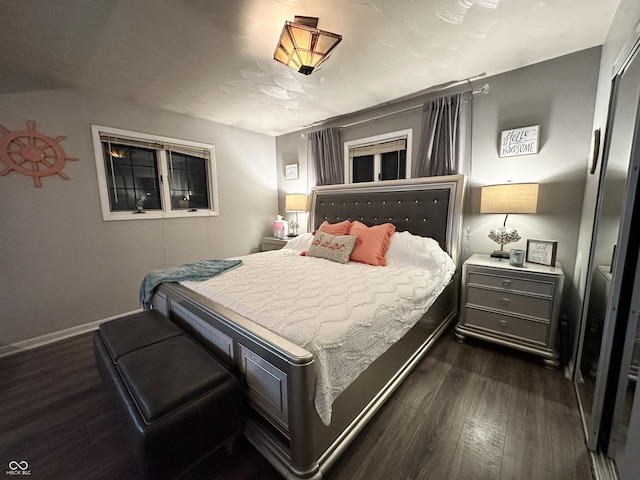
{"label": "dark tufted headboard with silver frame behind the coral pillows", "polygon": [[311,230],[327,220],[393,223],[396,230],[431,237],[458,264],[463,175],[326,185],[313,190]]}

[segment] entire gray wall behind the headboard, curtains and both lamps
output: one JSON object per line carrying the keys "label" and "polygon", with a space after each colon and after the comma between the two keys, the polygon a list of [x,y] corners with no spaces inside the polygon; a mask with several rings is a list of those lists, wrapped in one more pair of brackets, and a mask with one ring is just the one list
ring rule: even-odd
{"label": "entire gray wall behind the headboard, curtains and both lamps", "polygon": [[[565,294],[562,313],[575,326],[579,308],[573,308],[574,269],[582,199],[587,175],[589,144],[600,48],[592,48],[511,72],[473,82],[474,89],[490,84],[488,95],[474,97],[473,154],[470,178],[471,201],[466,206],[463,253],[489,253],[496,244],[487,238],[490,228],[502,224],[501,215],[480,215],[480,187],[487,184],[539,182],[540,199],[536,215],[512,215],[508,225],[516,228],[522,240],[508,248],[526,248],[526,239],[558,241],[558,260],[562,264]],[[344,125],[424,102],[427,98],[459,91],[462,87],[404,99],[395,105],[334,119],[324,126]],[[341,130],[347,141],[393,130],[413,128],[413,156],[417,154],[420,109],[375,120]],[[500,132],[505,129],[540,125],[537,155],[499,158]],[[322,127],[318,127],[322,128]],[[305,130],[309,131],[309,130]],[[278,188],[280,206],[284,193],[308,188],[306,179],[284,179],[284,164],[298,161],[306,171],[306,140],[295,132],[277,138]],[[297,182],[297,184],[296,184]]]}

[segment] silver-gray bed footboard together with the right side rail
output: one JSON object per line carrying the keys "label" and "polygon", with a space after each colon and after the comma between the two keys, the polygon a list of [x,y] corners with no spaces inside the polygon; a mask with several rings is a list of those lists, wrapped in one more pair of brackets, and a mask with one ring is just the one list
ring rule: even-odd
{"label": "silver-gray bed footboard together with the right side rail", "polygon": [[401,341],[369,366],[333,405],[325,426],[314,408],[307,350],[179,284],[162,284],[165,313],[243,381],[244,435],[286,478],[321,478],[420,361],[457,313],[458,278]]}

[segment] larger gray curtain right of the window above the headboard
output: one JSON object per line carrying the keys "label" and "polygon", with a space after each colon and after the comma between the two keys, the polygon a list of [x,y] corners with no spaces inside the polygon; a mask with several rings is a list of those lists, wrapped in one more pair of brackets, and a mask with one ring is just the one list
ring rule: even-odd
{"label": "larger gray curtain right of the window above the headboard", "polygon": [[414,177],[469,175],[472,110],[470,91],[425,102]]}

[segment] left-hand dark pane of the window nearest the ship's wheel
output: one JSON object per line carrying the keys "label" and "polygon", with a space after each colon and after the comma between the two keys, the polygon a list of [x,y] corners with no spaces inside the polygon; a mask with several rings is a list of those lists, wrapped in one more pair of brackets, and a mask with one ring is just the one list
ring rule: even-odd
{"label": "left-hand dark pane of the window nearest the ship's wheel", "polygon": [[[102,143],[112,212],[160,210],[156,151]],[[114,187],[115,185],[115,187]]]}

